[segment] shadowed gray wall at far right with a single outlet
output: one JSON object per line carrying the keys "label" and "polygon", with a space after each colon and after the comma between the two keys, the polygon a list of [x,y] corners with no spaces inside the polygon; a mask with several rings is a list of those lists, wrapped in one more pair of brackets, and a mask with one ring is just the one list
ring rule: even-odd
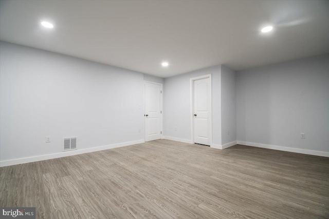
{"label": "shadowed gray wall at far right with a single outlet", "polygon": [[329,55],[239,71],[236,88],[237,140],[329,151]]}

